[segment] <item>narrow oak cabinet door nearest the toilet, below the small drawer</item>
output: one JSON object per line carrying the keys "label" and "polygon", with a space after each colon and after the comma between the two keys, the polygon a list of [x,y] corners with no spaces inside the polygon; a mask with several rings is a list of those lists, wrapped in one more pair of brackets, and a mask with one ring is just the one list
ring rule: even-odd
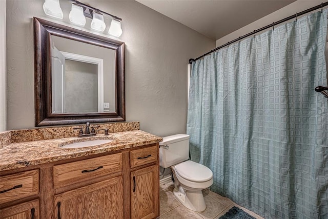
{"label": "narrow oak cabinet door nearest the toilet, below the small drawer", "polygon": [[158,165],[131,172],[131,218],[159,216]]}

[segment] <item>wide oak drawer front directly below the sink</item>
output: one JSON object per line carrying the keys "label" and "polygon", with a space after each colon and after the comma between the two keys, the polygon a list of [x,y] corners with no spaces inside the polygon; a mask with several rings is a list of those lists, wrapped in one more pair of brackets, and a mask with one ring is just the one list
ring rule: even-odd
{"label": "wide oak drawer front directly below the sink", "polygon": [[64,187],[88,178],[122,171],[122,153],[111,154],[53,167],[54,187]]}

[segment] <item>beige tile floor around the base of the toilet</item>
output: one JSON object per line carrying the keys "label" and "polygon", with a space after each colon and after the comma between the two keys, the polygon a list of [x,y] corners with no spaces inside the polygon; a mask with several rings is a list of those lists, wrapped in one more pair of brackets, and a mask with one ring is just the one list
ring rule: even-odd
{"label": "beige tile floor around the base of the toilet", "polygon": [[160,219],[183,219],[183,218],[206,218],[213,219],[218,218],[225,214],[233,206],[241,208],[245,212],[249,213],[255,218],[263,217],[249,211],[243,207],[240,207],[236,203],[232,202],[229,198],[223,197],[215,192],[206,189],[203,191],[204,199],[207,208],[202,212],[194,212],[181,205],[173,195],[173,183],[160,185],[159,201],[160,201]]}

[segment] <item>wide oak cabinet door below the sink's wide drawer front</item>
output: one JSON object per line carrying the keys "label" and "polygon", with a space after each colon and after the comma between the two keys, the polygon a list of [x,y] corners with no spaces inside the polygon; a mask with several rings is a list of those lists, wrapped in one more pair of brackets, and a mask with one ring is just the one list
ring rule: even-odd
{"label": "wide oak cabinet door below the sink's wide drawer front", "polygon": [[56,195],[55,218],[123,218],[122,177]]}

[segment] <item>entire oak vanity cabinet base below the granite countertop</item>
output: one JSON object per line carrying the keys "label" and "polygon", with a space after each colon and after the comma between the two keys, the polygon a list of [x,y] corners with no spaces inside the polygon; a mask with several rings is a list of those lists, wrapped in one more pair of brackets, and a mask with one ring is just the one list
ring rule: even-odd
{"label": "entire oak vanity cabinet base below the granite countertop", "polygon": [[156,218],[158,156],[157,143],[8,171],[0,219]]}

